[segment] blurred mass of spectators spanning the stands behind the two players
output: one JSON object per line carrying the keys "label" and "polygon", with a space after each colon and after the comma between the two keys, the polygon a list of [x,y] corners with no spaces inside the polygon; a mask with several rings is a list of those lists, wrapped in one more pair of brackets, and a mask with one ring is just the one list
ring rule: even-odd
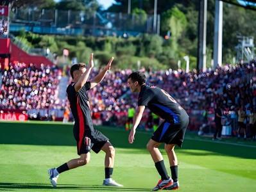
{"label": "blurred mass of spectators spanning the stands behind the two players", "polygon": [[[225,125],[227,136],[238,136],[237,129],[241,128],[241,136],[252,136],[250,114],[256,108],[256,66],[250,63],[226,64],[215,70],[157,70],[142,67],[148,78],[147,84],[155,85],[166,90],[191,116],[189,130],[198,134],[214,132],[214,113],[218,106],[221,115],[232,119]],[[92,79],[98,70],[90,74]],[[124,127],[128,122],[128,109],[136,108],[137,94],[132,94],[127,84],[126,70],[110,70],[105,79],[89,91],[92,118],[95,125],[115,125]],[[0,109],[1,113],[13,113],[20,110],[28,114],[30,120],[60,120],[64,123],[73,122],[69,111],[69,102],[65,92],[60,92],[71,83],[69,74],[56,66],[44,64],[40,68],[32,63],[11,63],[10,68],[1,70],[0,79]],[[61,83],[66,79],[65,83]],[[239,111],[243,108],[248,124],[247,129],[239,126]],[[150,122],[152,121],[152,122]],[[252,120],[253,121],[253,120]],[[141,129],[152,130],[153,118],[145,113]],[[228,128],[228,126],[230,126]],[[245,129],[246,132],[243,131]],[[253,139],[253,138],[252,138]],[[255,139],[255,138],[254,138]]]}

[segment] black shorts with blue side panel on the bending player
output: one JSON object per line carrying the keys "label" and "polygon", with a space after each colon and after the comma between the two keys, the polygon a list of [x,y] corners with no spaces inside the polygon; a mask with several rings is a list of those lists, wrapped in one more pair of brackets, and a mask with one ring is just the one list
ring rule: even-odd
{"label": "black shorts with blue side panel on the bending player", "polygon": [[165,120],[153,133],[151,139],[158,143],[176,144],[182,147],[187,125],[189,125],[189,116],[187,115],[182,116],[182,122],[179,124]]}

